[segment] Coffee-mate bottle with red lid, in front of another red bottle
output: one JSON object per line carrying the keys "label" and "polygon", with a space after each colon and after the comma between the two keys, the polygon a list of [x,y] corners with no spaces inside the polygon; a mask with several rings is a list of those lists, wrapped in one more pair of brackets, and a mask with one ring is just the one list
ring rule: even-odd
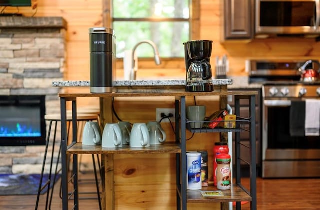
{"label": "Coffee-mate bottle with red lid, in front of another red bottle", "polygon": [[216,156],[216,188],[220,190],[228,190],[231,188],[231,156],[229,154],[220,153]]}

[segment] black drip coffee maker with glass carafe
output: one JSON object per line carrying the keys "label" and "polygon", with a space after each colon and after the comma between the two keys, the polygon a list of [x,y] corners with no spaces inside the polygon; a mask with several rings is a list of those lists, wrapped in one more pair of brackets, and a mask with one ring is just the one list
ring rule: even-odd
{"label": "black drip coffee maker with glass carafe", "polygon": [[187,92],[213,91],[210,56],[211,40],[193,40],[184,44]]}

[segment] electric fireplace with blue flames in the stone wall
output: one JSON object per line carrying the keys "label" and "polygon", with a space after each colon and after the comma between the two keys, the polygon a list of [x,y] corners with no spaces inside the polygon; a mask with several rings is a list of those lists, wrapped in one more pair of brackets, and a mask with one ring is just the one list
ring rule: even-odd
{"label": "electric fireplace with blue flames in the stone wall", "polygon": [[0,96],[0,146],[45,145],[45,96]]}

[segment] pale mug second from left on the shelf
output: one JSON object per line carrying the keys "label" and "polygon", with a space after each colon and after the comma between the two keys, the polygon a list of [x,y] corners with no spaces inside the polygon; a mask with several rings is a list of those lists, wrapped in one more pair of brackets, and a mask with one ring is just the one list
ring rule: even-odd
{"label": "pale mug second from left on the shelf", "polygon": [[122,147],[121,129],[117,123],[106,123],[102,134],[102,147]]}

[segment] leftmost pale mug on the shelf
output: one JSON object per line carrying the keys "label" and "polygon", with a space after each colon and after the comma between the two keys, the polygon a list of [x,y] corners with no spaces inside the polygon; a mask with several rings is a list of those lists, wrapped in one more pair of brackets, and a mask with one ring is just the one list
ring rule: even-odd
{"label": "leftmost pale mug on the shelf", "polygon": [[101,144],[101,130],[98,122],[85,122],[82,132],[83,145],[98,145]]}

